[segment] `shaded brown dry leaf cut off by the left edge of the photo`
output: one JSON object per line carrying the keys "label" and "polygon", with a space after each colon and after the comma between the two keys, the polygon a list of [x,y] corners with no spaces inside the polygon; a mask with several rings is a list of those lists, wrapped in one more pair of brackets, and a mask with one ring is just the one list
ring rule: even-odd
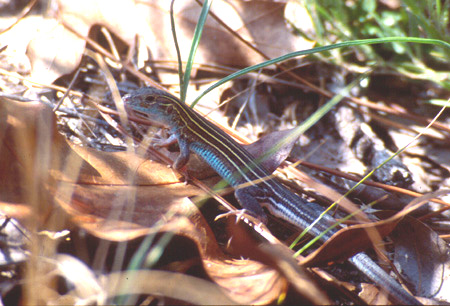
{"label": "shaded brown dry leaf cut off by the left edge of the photo", "polygon": [[[23,217],[50,223],[53,207],[44,191],[53,184],[49,175],[59,168],[70,148],[56,131],[50,108],[40,103],[18,103],[0,98],[0,197],[4,202],[27,204],[31,211]],[[68,166],[69,171],[74,169]],[[2,205],[11,213],[11,205]],[[17,206],[23,211],[23,206]],[[7,211],[5,211],[6,213]],[[21,215],[19,211],[11,213]],[[63,218],[56,223],[64,223]]]}

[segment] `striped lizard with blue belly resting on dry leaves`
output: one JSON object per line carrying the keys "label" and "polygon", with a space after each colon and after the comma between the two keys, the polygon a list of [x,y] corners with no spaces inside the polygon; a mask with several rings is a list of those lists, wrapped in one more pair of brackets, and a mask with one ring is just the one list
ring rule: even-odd
{"label": "striped lizard with blue belly resting on dry leaves", "polygon": [[[173,168],[180,169],[189,160],[190,153],[196,153],[235,188],[239,204],[263,222],[267,216],[262,207],[301,229],[313,223],[322,213],[323,209],[318,204],[304,200],[276,179],[268,179],[268,171],[256,163],[249,152],[175,96],[153,87],[144,87],[125,95],[123,100],[126,108],[170,127],[172,135],[160,146],[178,141],[180,155]],[[325,215],[309,233],[318,236],[335,222],[333,217]],[[329,231],[321,240],[326,241],[336,231]],[[365,253],[358,253],[349,261],[386,289],[395,302],[420,304]]]}

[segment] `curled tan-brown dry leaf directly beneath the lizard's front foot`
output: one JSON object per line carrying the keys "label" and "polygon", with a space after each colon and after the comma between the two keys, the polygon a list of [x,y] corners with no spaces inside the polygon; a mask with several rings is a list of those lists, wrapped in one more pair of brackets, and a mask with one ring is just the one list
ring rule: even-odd
{"label": "curled tan-brown dry leaf directly beneath the lizard's front foot", "polygon": [[123,241],[165,230],[153,228],[161,220],[179,223],[178,232],[186,217],[198,220],[197,208],[186,198],[202,191],[181,182],[166,165],[132,152],[71,147],[95,173],[81,170],[75,179],[59,178],[57,187],[49,187],[59,205],[93,235]]}

